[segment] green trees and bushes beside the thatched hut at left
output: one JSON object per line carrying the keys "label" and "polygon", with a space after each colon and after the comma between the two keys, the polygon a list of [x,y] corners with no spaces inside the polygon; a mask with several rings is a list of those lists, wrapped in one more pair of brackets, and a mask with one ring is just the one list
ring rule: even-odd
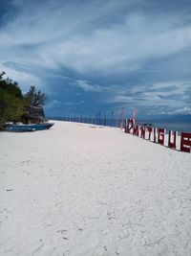
{"label": "green trees and bushes beside the thatched hut at left", "polygon": [[0,74],[0,128],[7,122],[23,121],[29,106],[44,105],[46,100],[46,95],[41,91],[36,92],[35,86],[31,86],[29,92],[23,95],[16,81],[3,79],[5,74],[4,71]]}

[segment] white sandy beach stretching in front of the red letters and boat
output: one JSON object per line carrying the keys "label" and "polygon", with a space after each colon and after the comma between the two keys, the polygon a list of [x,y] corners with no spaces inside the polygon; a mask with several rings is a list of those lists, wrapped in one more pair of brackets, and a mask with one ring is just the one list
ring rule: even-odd
{"label": "white sandy beach stretching in front of the red letters and boat", "polygon": [[191,154],[118,128],[0,133],[0,255],[191,255]]}

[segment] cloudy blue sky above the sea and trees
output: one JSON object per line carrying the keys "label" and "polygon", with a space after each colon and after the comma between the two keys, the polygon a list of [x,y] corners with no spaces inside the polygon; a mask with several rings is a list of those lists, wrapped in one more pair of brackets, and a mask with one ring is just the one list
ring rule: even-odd
{"label": "cloudy blue sky above the sea and trees", "polygon": [[0,0],[0,10],[0,71],[45,92],[47,116],[191,115],[190,0]]}

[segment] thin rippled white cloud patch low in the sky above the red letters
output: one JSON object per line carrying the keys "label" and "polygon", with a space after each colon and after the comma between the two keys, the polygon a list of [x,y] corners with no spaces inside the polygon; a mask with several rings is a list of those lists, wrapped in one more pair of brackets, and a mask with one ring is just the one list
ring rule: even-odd
{"label": "thin rippled white cloud patch low in the sky above the red letters", "polygon": [[[151,85],[137,85],[132,88],[113,86],[106,102],[137,106],[162,106],[171,108],[184,107],[189,99],[187,91],[191,88],[191,81],[168,81]],[[190,94],[190,92],[189,92]],[[184,108],[183,108],[184,109]],[[186,109],[184,109],[186,110]],[[166,109],[167,111],[167,109]]]}

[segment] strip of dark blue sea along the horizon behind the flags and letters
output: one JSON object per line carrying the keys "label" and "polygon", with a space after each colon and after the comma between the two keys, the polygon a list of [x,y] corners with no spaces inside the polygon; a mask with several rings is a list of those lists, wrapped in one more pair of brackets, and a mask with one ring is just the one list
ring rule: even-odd
{"label": "strip of dark blue sea along the horizon behind the flags and letters", "polygon": [[[121,119],[105,119],[105,118],[89,118],[89,117],[49,117],[52,120],[58,121],[68,121],[76,123],[92,124],[97,126],[106,127],[118,127],[121,128],[125,126],[125,120]],[[179,132],[190,132],[191,133],[191,116],[188,118],[163,118],[163,119],[138,119],[137,125],[149,124],[153,128],[165,128],[166,133],[168,130],[176,130]]]}

